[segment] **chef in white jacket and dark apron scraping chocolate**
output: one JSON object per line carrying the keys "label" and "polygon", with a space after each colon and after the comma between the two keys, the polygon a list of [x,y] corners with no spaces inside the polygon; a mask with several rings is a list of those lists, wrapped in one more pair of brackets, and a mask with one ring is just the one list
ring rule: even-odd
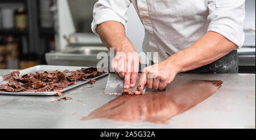
{"label": "chef in white jacket and dark apron scraping chocolate", "polygon": [[124,88],[135,86],[140,63],[125,35],[131,3],[145,29],[143,52],[159,53],[159,63],[143,69],[141,88],[163,90],[186,71],[238,72],[236,49],[245,38],[245,0],[99,0],[94,5],[92,31],[114,48],[112,68],[124,78]]}

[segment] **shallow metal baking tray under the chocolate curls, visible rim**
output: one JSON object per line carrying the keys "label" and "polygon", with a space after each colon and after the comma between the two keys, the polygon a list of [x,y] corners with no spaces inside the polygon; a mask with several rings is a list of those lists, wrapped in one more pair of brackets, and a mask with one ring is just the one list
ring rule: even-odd
{"label": "shallow metal baking tray under the chocolate curls, visible rim", "polygon": [[[19,73],[20,75],[24,75],[24,74],[28,74],[28,73],[35,73],[36,71],[42,73],[43,71],[55,71],[55,70],[59,70],[59,71],[64,71],[64,70],[69,70],[69,71],[75,71],[81,68],[87,68],[87,67],[77,67],[77,66],[53,66],[53,65],[38,65],[38,66],[34,66],[34,67],[30,67],[28,69],[24,69],[24,70],[20,70]],[[67,87],[65,87],[63,90],[60,90],[60,92],[65,92],[68,90],[71,90],[73,88],[82,86],[86,83],[90,82],[90,79],[99,79],[101,77],[105,77],[106,75],[108,75],[109,73],[104,73],[98,77],[94,77],[94,78],[88,78],[86,81],[81,81],[78,80],[76,82],[76,84],[72,84],[69,85]],[[8,83],[7,81],[4,81],[2,77],[0,77],[0,85],[1,84],[6,84]],[[48,91],[48,92],[0,92],[0,95],[55,95],[56,92],[55,91]]]}

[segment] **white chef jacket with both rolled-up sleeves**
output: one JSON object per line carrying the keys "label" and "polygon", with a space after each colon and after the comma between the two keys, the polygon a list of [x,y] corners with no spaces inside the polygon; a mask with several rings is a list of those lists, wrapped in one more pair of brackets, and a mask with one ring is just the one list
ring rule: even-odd
{"label": "white chef jacket with both rolled-up sleeves", "polygon": [[97,25],[109,20],[127,29],[131,3],[145,29],[143,52],[159,52],[159,62],[208,31],[220,33],[239,48],[245,39],[245,0],[99,0],[93,9],[92,31],[96,33]]}

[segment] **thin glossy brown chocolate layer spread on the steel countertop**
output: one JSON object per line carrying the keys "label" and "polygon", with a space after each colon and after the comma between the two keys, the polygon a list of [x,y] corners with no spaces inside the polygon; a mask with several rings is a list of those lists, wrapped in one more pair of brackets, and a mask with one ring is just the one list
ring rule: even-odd
{"label": "thin glossy brown chocolate layer spread on the steel countertop", "polygon": [[81,120],[107,118],[115,121],[166,124],[213,95],[222,85],[220,80],[175,79],[166,91],[144,95],[121,95],[96,109]]}

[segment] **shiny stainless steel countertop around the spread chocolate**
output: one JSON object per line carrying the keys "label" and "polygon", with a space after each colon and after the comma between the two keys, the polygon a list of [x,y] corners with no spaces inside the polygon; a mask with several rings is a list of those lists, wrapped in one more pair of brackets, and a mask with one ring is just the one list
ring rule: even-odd
{"label": "shiny stainless steel countertop around the spread chocolate", "polygon": [[[0,75],[10,70],[1,70]],[[255,74],[179,74],[184,79],[222,80],[207,100],[168,124],[79,120],[118,95],[104,95],[107,77],[56,96],[0,95],[0,128],[255,128]],[[80,100],[80,101],[77,101]],[[81,102],[82,101],[82,102]],[[75,113],[74,113],[75,112]]]}

